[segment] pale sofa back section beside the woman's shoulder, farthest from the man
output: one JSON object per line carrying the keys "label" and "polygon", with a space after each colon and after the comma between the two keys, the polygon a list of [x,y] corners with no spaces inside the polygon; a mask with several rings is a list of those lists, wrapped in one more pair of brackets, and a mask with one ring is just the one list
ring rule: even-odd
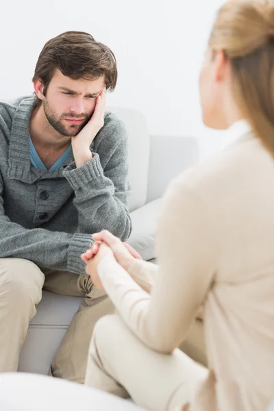
{"label": "pale sofa back section beside the woman's shoulder, farthest from the man", "polygon": [[194,137],[150,136],[147,202],[162,197],[171,179],[199,159]]}

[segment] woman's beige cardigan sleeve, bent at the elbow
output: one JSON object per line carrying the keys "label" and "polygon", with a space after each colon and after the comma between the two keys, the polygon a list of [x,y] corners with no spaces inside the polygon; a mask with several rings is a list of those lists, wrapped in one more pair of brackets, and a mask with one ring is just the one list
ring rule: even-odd
{"label": "woman's beige cardigan sleeve, bent at the elbow", "polygon": [[213,281],[216,247],[210,212],[199,195],[176,180],[163,203],[156,238],[159,271],[151,295],[114,259],[103,259],[98,270],[132,332],[151,349],[170,353],[186,337]]}

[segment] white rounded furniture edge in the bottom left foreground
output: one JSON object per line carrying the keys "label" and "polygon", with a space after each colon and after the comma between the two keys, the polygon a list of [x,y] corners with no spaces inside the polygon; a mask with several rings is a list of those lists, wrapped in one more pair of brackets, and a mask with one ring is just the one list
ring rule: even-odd
{"label": "white rounded furniture edge in the bottom left foreground", "polygon": [[145,411],[101,390],[60,378],[0,373],[1,411]]}

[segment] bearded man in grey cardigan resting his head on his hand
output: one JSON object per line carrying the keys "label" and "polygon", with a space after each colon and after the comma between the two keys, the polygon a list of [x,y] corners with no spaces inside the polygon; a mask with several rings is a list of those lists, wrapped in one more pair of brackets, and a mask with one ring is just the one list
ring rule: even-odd
{"label": "bearded man in grey cardigan resting his head on his hand", "polygon": [[34,96],[0,103],[0,372],[16,371],[41,290],[86,296],[53,359],[56,377],[84,382],[92,328],[112,310],[80,256],[92,233],[131,232],[127,134],[105,114],[114,54],[66,32],[42,49]]}

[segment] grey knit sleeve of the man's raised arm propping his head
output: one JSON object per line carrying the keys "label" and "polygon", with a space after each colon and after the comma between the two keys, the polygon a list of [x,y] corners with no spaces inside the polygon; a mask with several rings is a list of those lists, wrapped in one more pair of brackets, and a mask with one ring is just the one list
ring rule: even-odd
{"label": "grey knit sleeve of the man's raised arm propping his head", "polygon": [[[78,210],[80,232],[100,232],[108,229],[125,241],[132,230],[127,210],[129,197],[127,134],[121,121],[108,121],[103,129],[103,149],[111,151],[107,164],[98,153],[92,160],[75,168],[75,163],[63,175],[75,191],[74,204]],[[113,147],[110,140],[118,141]]]}

